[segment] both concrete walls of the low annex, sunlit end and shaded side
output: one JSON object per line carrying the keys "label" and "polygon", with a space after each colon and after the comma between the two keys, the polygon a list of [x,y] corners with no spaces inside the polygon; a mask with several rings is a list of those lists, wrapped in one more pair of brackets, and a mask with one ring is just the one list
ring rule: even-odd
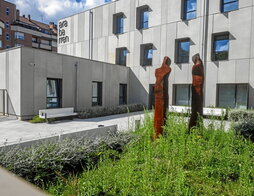
{"label": "both concrete walls of the low annex, sunlit end and shaded side", "polygon": [[45,109],[47,78],[62,79],[62,107],[82,111],[92,107],[93,81],[103,83],[103,107],[119,105],[119,85],[129,86],[129,68],[28,47],[0,53],[0,89],[8,92],[8,114],[26,119]]}

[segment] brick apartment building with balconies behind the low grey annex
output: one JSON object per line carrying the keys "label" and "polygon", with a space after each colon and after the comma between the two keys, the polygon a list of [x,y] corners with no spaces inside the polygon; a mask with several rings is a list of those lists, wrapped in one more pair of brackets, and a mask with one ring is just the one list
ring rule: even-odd
{"label": "brick apartment building with balconies behind the low grey annex", "polygon": [[20,16],[16,5],[0,0],[0,19],[4,22],[0,50],[28,46],[57,51],[57,27],[54,23],[35,21],[30,15]]}

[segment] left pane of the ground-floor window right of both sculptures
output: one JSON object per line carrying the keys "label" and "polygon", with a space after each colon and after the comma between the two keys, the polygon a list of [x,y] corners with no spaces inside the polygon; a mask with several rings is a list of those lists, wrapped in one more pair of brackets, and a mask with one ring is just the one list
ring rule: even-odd
{"label": "left pane of the ground-floor window right of both sculptures", "polygon": [[226,84],[219,85],[219,107],[235,108],[235,85]]}

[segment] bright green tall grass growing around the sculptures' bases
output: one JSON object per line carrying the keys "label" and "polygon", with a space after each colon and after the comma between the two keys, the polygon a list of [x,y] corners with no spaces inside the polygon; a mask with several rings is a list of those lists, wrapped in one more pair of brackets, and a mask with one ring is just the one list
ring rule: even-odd
{"label": "bright green tall grass growing around the sculptures' bases", "polygon": [[200,126],[188,134],[169,116],[165,134],[151,141],[147,119],[122,154],[104,152],[96,168],[59,179],[53,195],[254,195],[254,144],[234,131]]}

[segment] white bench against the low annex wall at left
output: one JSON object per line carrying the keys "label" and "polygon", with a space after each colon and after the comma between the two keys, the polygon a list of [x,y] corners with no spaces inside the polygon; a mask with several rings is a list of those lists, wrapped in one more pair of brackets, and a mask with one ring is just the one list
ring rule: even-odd
{"label": "white bench against the low annex wall at left", "polygon": [[42,119],[52,119],[52,118],[64,118],[64,117],[74,117],[78,113],[74,113],[74,108],[58,108],[58,109],[45,109],[39,110],[39,117]]}

